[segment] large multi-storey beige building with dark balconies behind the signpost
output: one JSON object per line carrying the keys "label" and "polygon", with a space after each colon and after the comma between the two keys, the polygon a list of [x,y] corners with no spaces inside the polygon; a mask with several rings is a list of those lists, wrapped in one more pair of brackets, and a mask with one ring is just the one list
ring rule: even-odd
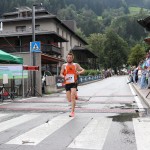
{"label": "large multi-storey beige building with dark balconies behind the signpost", "polygon": [[[33,39],[32,12],[31,8],[22,7],[15,12],[3,14],[1,19],[0,49],[23,57],[23,65],[33,65],[33,54],[30,53],[30,42]],[[59,20],[45,9],[35,9],[34,13],[35,41],[41,43],[41,53],[34,53],[34,65],[40,68],[35,73],[34,80],[38,93],[42,94],[41,78],[44,71],[49,71],[52,75],[58,75],[67,53],[76,46],[84,47],[87,42],[67,26],[66,22]],[[86,61],[88,62],[88,58]],[[25,91],[28,87],[32,87],[31,76],[29,73]]]}

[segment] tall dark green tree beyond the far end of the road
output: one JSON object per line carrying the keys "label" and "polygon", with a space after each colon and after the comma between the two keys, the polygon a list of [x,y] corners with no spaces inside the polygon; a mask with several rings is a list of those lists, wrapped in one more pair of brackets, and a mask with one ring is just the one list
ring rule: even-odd
{"label": "tall dark green tree beyond the far end of the road", "polygon": [[104,45],[105,68],[112,68],[117,73],[127,63],[128,44],[113,29],[108,29]]}

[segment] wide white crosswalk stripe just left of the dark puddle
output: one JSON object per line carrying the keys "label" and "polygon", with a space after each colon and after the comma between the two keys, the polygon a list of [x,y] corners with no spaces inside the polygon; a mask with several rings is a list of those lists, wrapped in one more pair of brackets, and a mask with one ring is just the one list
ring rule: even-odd
{"label": "wide white crosswalk stripe just left of the dark puddle", "polygon": [[102,150],[112,118],[93,119],[68,148]]}

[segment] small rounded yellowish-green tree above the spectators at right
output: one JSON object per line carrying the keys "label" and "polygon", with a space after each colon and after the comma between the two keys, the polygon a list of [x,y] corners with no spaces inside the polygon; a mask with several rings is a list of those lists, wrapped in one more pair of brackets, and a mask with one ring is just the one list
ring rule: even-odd
{"label": "small rounded yellowish-green tree above the spectators at right", "polygon": [[139,62],[144,59],[145,55],[146,52],[144,50],[144,47],[142,47],[139,44],[136,44],[134,47],[131,48],[131,53],[128,58],[128,63],[130,65],[137,66]]}

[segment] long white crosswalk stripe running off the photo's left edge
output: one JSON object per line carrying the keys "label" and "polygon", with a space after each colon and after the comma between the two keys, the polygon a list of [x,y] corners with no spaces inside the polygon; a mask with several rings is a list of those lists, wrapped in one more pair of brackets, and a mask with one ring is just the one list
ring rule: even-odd
{"label": "long white crosswalk stripe running off the photo's left edge", "polygon": [[15,127],[17,125],[20,125],[26,121],[29,121],[31,119],[34,119],[36,117],[38,117],[39,115],[23,115],[8,121],[4,121],[2,123],[0,123],[0,132],[7,130],[9,128]]}

